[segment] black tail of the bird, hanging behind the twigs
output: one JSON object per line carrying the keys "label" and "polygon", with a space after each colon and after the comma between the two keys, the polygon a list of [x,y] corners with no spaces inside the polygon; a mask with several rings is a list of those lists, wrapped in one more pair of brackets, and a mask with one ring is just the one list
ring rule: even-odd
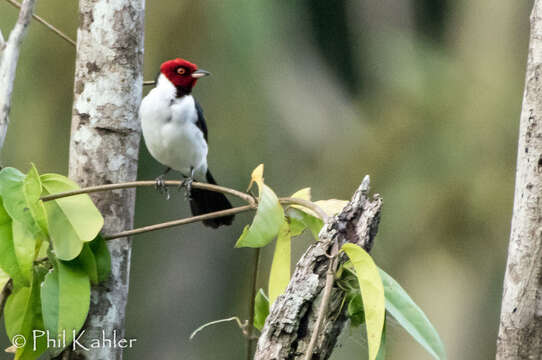
{"label": "black tail of the bird, hanging behind the twigs", "polygon": [[[209,170],[207,170],[207,182],[216,185],[216,181]],[[194,216],[203,215],[210,212],[231,209],[231,203],[222,193],[192,188],[190,193],[190,209],[192,209]],[[203,220],[203,225],[217,228],[221,225],[231,225],[232,221],[233,215],[228,215]]]}

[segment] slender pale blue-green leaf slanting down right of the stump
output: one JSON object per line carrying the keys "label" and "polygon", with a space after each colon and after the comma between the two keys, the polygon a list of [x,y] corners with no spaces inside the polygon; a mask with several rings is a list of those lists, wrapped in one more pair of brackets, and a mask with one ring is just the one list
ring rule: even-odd
{"label": "slender pale blue-green leaf slanting down right of the stump", "polygon": [[435,359],[446,359],[444,344],[427,316],[405,290],[384,270],[380,276],[386,294],[386,309]]}

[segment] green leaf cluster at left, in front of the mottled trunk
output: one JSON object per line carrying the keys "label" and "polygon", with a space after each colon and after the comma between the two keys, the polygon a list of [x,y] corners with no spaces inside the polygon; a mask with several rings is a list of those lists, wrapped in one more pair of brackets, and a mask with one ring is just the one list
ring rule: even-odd
{"label": "green leaf cluster at left, in front of the mottled trunk", "polygon": [[[0,171],[0,288],[15,359],[59,354],[82,328],[90,286],[109,277],[110,254],[99,235],[103,217],[86,194],[44,203],[42,196],[78,189],[59,174]],[[48,339],[54,339],[47,343]],[[20,339],[19,339],[20,340]]]}

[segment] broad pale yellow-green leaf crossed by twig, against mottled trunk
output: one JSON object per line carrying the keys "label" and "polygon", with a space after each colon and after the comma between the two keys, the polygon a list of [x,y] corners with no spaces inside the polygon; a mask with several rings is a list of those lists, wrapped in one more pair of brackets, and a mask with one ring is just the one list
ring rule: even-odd
{"label": "broad pale yellow-green leaf crossed by twig, against mottled trunk", "polygon": [[[79,189],[79,186],[58,174],[41,176],[44,195]],[[56,256],[72,260],[83,249],[83,243],[98,235],[103,217],[86,194],[69,196],[45,203],[49,234]]]}

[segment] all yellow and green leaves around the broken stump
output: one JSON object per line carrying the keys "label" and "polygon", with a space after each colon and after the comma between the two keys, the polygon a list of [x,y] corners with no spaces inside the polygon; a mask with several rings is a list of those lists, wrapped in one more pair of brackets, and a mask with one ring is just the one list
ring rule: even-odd
{"label": "all yellow and green leaves around the broken stump", "polygon": [[[324,223],[307,207],[291,205],[283,209],[273,190],[264,183],[263,165],[253,171],[249,189],[254,183],[259,190],[258,209],[252,224],[245,227],[236,246],[263,247],[276,239],[268,281],[269,297],[260,289],[255,298],[254,327],[261,330],[270,306],[286,290],[290,281],[292,238],[309,230],[318,240]],[[310,188],[301,189],[291,197],[311,201]],[[342,210],[347,201],[331,199],[314,204],[328,216],[333,216]],[[379,269],[360,246],[347,243],[341,250],[350,260],[338,269],[337,285],[346,293],[351,326],[364,324],[366,327],[369,359],[383,359],[385,356],[386,310],[431,355],[436,359],[445,359],[444,346],[435,328],[399,284]]]}

